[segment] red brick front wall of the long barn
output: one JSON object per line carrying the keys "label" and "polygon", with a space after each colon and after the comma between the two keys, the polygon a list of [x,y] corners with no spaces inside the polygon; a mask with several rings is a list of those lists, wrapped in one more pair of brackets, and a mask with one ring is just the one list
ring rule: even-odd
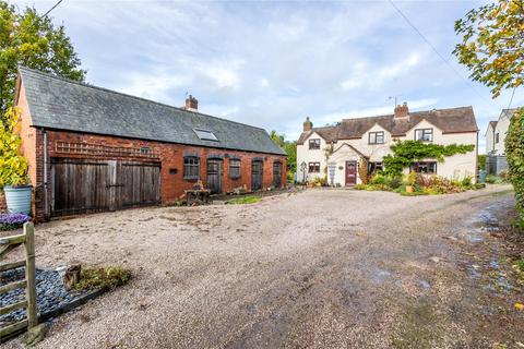
{"label": "red brick front wall of the long barn", "polygon": [[[48,154],[48,210],[50,212],[50,158],[51,157],[67,157],[67,158],[90,158],[98,160],[126,160],[126,161],[159,161],[160,163],[160,197],[163,204],[175,202],[184,190],[191,189],[194,180],[183,179],[183,156],[187,154],[196,154],[200,156],[200,178],[206,186],[206,160],[209,156],[224,157],[224,176],[223,188],[224,192],[231,192],[235,188],[246,185],[248,190],[251,188],[251,161],[253,158],[263,158],[263,188],[273,185],[273,164],[281,161],[283,164],[282,184],[286,183],[286,158],[284,156],[271,154],[258,154],[249,152],[237,152],[219,148],[207,148],[198,146],[186,146],[180,144],[169,144],[153,141],[129,140],[116,136],[104,136],[85,133],[63,132],[63,131],[46,131],[47,134],[47,154]],[[36,140],[35,154],[36,160],[31,160],[29,167],[35,169],[33,185],[35,186],[35,204],[34,210],[37,220],[45,219],[45,195],[44,195],[44,131],[37,130],[34,135]],[[25,140],[24,140],[25,141]],[[71,143],[88,143],[105,146],[119,147],[148,147],[151,152],[159,154],[159,158],[153,160],[143,157],[118,157],[118,156],[103,156],[103,155],[79,155],[64,154],[57,151],[57,142]],[[226,155],[227,154],[227,155]],[[231,179],[229,177],[229,160],[227,157],[240,157],[241,176],[239,179]],[[176,173],[174,173],[176,169]]]}

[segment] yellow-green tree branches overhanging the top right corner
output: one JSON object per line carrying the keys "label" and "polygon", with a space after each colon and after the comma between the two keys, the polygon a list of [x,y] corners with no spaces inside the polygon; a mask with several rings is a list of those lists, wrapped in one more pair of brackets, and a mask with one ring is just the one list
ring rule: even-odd
{"label": "yellow-green tree branches overhanging the top right corner", "polygon": [[499,0],[473,9],[455,22],[455,33],[463,39],[453,53],[471,70],[473,80],[491,88],[493,97],[523,84],[523,0]]}

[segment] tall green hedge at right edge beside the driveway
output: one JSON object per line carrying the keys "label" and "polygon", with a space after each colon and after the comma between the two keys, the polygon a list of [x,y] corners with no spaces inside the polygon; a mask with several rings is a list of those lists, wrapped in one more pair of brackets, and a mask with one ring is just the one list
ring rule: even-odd
{"label": "tall green hedge at right edge beside the driveway", "polygon": [[524,228],[524,108],[511,118],[505,135],[505,156],[510,168],[510,181],[515,189],[516,208]]}

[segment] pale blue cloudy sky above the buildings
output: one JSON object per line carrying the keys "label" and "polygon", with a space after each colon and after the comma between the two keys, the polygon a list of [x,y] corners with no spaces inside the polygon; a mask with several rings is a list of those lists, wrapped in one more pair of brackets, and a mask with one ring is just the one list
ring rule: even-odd
{"label": "pale blue cloudy sky above the buildings", "polygon": [[[40,12],[53,1],[13,1]],[[454,21],[483,1],[395,1],[458,72],[388,1],[83,1],[51,12],[92,84],[296,140],[314,125],[410,110],[473,106],[481,135],[511,93],[491,99],[451,55]],[[524,105],[517,89],[512,106]],[[480,141],[484,149],[484,140]]]}

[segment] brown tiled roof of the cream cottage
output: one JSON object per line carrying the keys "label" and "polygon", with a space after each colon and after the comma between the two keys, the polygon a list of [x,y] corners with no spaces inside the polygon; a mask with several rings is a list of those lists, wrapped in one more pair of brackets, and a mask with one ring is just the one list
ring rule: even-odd
{"label": "brown tiled roof of the cream cottage", "polygon": [[394,115],[388,115],[369,118],[343,119],[336,127],[313,128],[311,131],[302,132],[297,143],[303,144],[303,141],[313,132],[319,133],[319,135],[326,142],[360,139],[374,124],[379,124],[393,136],[404,136],[422,120],[427,120],[442,130],[443,133],[478,131],[473,108],[458,107],[409,112],[409,118],[395,118]]}

